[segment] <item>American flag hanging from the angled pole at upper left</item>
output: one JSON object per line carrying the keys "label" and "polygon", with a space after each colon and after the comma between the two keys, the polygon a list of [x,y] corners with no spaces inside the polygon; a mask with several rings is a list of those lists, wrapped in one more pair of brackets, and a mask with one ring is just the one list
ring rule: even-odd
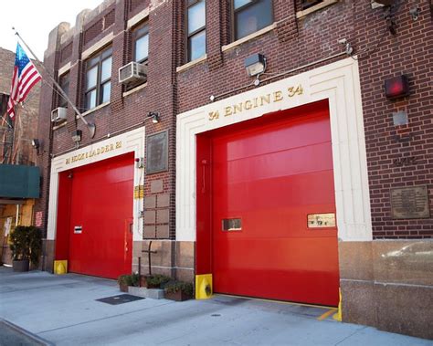
{"label": "American flag hanging from the angled pole at upper left", "polygon": [[15,117],[15,105],[26,100],[30,89],[41,79],[35,65],[26,56],[26,52],[16,45],[14,74],[12,75],[11,92],[7,102],[7,113],[11,119]]}

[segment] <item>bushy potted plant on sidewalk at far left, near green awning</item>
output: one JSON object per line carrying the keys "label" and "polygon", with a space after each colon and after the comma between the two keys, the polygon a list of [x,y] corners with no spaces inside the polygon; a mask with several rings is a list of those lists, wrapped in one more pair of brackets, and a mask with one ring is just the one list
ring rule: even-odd
{"label": "bushy potted plant on sidewalk at far left, near green awning", "polygon": [[33,225],[17,225],[10,235],[14,271],[28,271],[30,263],[37,267],[42,250],[42,231]]}

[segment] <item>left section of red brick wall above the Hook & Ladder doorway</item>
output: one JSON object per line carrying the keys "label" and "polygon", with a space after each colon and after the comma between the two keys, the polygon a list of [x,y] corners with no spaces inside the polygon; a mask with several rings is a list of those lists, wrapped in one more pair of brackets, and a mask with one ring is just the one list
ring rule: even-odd
{"label": "left section of red brick wall above the Hook & Ladder doorway", "polygon": [[[150,16],[147,18],[150,31],[150,52],[148,66],[148,83],[139,91],[123,97],[124,87],[118,83],[118,69],[121,66],[131,61],[131,32],[126,30],[127,18],[134,16],[139,11],[143,10],[145,4],[135,5],[130,11],[129,3],[118,2],[115,8],[115,21],[113,26],[100,31],[98,24],[101,16],[107,16],[111,13],[112,8],[107,8],[99,16],[93,17],[89,23],[85,23],[84,27],[90,30],[92,34],[88,34],[89,42],[85,44],[83,35],[73,37],[73,49],[71,53],[71,68],[69,81],[69,98],[74,100],[77,105],[82,104],[82,85],[84,82],[84,71],[82,69],[83,62],[79,61],[81,52],[91,47],[100,40],[100,38],[108,35],[113,31],[112,46],[112,69],[111,69],[111,103],[110,105],[95,110],[86,116],[86,120],[96,124],[96,135],[94,139],[90,138],[89,132],[81,121],[76,121],[73,111],[69,110],[68,124],[57,130],[52,131],[52,154],[58,155],[63,152],[72,151],[75,145],[71,140],[71,131],[79,129],[83,133],[80,146],[86,146],[91,142],[98,142],[107,138],[107,135],[119,134],[125,131],[131,131],[133,128],[146,126],[146,135],[169,130],[169,170],[164,173],[147,174],[144,176],[145,195],[153,194],[151,192],[151,183],[154,181],[163,182],[163,191],[158,194],[170,194],[170,232],[164,233],[156,237],[159,238],[174,238],[175,225],[175,207],[174,207],[174,192],[175,192],[175,117],[174,117],[174,13],[175,6],[172,2],[161,2],[154,5]],[[99,28],[98,28],[99,27]],[[90,32],[89,31],[89,32]],[[86,32],[86,31],[85,31]],[[92,37],[89,39],[89,37]],[[56,42],[52,42],[56,49]],[[54,50],[53,49],[53,50]],[[58,53],[46,56],[46,65],[56,74],[59,66]],[[46,100],[53,99],[53,91],[44,89],[44,97]],[[51,127],[49,123],[49,113],[56,107],[56,102],[44,102],[41,105],[41,114],[44,114],[40,122],[41,127],[47,136],[50,133]],[[153,124],[147,117],[149,111],[158,111],[161,114],[161,121]],[[144,146],[144,143],[143,143]],[[48,156],[45,157],[48,160]],[[48,205],[48,162],[43,163],[44,169],[44,196],[37,205],[36,210],[47,209]],[[46,228],[46,224],[44,224]]]}

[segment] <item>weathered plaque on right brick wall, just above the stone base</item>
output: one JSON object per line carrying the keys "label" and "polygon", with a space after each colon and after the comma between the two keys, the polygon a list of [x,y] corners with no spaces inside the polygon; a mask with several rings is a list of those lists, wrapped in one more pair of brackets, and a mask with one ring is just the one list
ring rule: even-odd
{"label": "weathered plaque on right brick wall, just above the stone base", "polygon": [[427,185],[391,189],[391,217],[393,219],[430,217]]}

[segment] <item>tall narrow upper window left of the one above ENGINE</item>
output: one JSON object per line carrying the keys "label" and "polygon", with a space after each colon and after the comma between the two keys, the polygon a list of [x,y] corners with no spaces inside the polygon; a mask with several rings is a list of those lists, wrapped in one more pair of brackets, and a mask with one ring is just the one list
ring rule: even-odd
{"label": "tall narrow upper window left of the one above ENGINE", "polygon": [[193,61],[206,55],[206,1],[188,0],[187,58]]}

